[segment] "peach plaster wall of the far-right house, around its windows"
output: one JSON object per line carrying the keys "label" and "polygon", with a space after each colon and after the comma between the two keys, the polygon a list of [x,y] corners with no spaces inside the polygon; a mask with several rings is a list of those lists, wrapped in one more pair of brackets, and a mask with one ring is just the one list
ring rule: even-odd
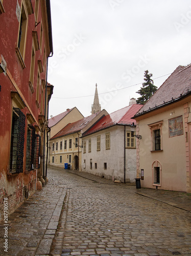
{"label": "peach plaster wall of the far-right house, around its windows", "polygon": [[[172,115],[170,115],[172,113]],[[183,135],[169,136],[169,119],[183,116]],[[162,121],[161,151],[152,151],[151,130],[149,124]],[[144,169],[144,180],[141,180],[142,187],[156,188],[152,164],[158,161],[161,164],[161,182],[158,189],[169,189],[186,191],[186,156],[185,156],[185,127],[183,105],[170,109],[160,114],[139,120],[139,134],[142,139],[139,141],[137,162],[138,172]]]}

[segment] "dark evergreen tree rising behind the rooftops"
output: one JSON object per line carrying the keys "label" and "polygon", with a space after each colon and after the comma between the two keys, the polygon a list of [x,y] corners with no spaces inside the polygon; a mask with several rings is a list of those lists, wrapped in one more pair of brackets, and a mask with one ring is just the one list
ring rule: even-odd
{"label": "dark evergreen tree rising behind the rooftops", "polygon": [[152,76],[153,74],[149,74],[149,70],[145,71],[145,74],[144,74],[145,82],[142,83],[142,87],[140,88],[140,90],[136,92],[141,96],[136,100],[137,104],[145,104],[148,101],[148,99],[151,98],[154,92],[156,92],[157,87],[154,86],[154,82],[151,79]]}

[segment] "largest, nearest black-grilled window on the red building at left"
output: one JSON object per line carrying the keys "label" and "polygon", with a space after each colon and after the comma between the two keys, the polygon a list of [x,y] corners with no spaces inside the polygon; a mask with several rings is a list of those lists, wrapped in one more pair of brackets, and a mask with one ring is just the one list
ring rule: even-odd
{"label": "largest, nearest black-grilled window on the red building at left", "polygon": [[25,142],[26,116],[18,108],[13,108],[11,147],[10,147],[10,173],[22,173]]}

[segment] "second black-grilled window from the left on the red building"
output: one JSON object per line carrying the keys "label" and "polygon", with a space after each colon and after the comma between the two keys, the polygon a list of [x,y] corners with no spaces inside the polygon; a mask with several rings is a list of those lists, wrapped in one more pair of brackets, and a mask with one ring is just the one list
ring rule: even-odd
{"label": "second black-grilled window from the left on the red building", "polygon": [[27,130],[27,154],[26,154],[26,169],[34,169],[34,158],[35,158],[35,127],[32,124],[28,125]]}

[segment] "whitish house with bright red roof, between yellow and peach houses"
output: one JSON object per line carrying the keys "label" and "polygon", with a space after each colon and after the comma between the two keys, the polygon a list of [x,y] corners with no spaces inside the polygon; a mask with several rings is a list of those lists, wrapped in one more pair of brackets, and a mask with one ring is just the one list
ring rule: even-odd
{"label": "whitish house with bright red roof, between yellow and peach houses", "polygon": [[82,133],[82,172],[120,182],[135,182],[136,121],[141,105],[131,104],[103,117]]}

